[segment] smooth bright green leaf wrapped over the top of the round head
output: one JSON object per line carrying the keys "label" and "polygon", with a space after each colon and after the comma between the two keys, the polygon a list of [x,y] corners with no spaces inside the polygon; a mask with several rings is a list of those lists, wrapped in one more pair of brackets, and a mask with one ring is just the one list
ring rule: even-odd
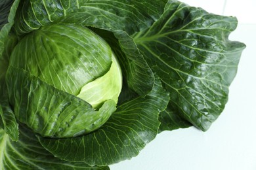
{"label": "smooth bright green leaf wrapped over the top of the round head", "polygon": [[73,95],[105,75],[111,64],[110,46],[76,24],[45,25],[29,33],[15,46],[9,63]]}

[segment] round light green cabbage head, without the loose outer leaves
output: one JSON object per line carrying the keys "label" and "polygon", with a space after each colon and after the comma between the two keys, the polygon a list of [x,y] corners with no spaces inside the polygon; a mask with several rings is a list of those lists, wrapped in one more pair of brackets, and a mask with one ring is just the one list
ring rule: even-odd
{"label": "round light green cabbage head, without the loose outer leaves", "polygon": [[16,117],[45,137],[98,129],[116,110],[122,88],[108,43],[72,24],[47,25],[23,37],[12,51],[7,77]]}

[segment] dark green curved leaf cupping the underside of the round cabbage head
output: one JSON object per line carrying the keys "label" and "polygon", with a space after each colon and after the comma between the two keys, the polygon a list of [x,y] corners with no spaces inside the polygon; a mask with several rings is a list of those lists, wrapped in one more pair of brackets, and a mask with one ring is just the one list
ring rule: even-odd
{"label": "dark green curved leaf cupping the underside of the round cabbage head", "polygon": [[169,94],[159,78],[146,97],[137,97],[117,107],[108,122],[88,135],[70,139],[39,137],[40,143],[57,158],[110,165],[137,156],[158,133],[158,114],[165,110]]}

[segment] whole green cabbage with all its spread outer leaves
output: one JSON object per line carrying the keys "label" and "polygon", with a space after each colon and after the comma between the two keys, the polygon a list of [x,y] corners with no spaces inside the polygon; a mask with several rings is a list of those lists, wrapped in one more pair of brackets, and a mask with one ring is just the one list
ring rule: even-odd
{"label": "whole green cabbage with all its spread outer leaves", "polygon": [[0,3],[1,169],[108,169],[158,133],[207,131],[245,44],[179,1]]}

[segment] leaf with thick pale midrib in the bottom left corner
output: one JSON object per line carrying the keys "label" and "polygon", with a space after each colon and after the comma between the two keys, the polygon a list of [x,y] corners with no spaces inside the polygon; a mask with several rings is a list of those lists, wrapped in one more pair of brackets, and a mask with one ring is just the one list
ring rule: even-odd
{"label": "leaf with thick pale midrib in the bottom left corner", "polygon": [[91,167],[83,162],[68,162],[55,158],[45,150],[35,137],[35,133],[20,124],[20,139],[13,142],[0,129],[0,169],[88,169],[105,170],[109,167]]}

